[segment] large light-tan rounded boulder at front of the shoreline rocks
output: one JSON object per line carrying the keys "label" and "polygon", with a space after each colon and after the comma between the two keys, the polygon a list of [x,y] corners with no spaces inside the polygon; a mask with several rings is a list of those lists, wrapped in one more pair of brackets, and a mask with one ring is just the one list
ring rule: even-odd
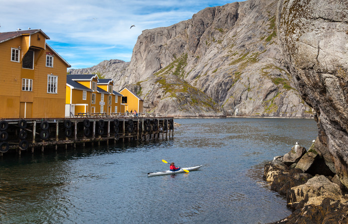
{"label": "large light-tan rounded boulder at front of the shoreline rocks", "polygon": [[333,200],[347,200],[342,198],[342,191],[339,185],[331,182],[324,175],[315,176],[303,185],[291,188],[287,195],[287,203],[289,207],[296,208],[302,202],[303,206],[320,205],[325,198]]}

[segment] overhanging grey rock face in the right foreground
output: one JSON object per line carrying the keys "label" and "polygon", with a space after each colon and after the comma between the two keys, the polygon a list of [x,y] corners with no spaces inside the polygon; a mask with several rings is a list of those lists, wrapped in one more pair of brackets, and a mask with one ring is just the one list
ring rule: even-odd
{"label": "overhanging grey rock face in the right foreground", "polygon": [[276,24],[286,66],[348,186],[347,0],[280,0]]}

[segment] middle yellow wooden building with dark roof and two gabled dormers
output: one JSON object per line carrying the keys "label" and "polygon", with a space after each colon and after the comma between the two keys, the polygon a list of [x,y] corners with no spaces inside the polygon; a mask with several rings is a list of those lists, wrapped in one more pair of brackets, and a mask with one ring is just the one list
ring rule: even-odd
{"label": "middle yellow wooden building with dark roof and two gabled dormers", "polygon": [[122,95],[113,91],[113,84],[111,80],[98,79],[94,74],[68,75],[65,116],[120,113]]}

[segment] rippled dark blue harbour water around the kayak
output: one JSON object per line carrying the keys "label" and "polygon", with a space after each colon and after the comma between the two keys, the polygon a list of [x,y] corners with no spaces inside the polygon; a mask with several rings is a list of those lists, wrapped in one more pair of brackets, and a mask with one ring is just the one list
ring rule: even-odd
{"label": "rippled dark blue harbour water around the kayak", "polygon": [[[291,214],[263,166],[318,135],[313,119],[176,119],[174,139],[0,160],[0,223],[268,223]],[[148,177],[169,164],[204,165]]]}

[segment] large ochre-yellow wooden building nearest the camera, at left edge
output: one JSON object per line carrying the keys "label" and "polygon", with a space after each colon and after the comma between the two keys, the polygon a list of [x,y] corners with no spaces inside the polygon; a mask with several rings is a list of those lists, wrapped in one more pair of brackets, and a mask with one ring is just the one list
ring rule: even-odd
{"label": "large ochre-yellow wooden building nearest the camera, at left edge", "polygon": [[0,117],[64,117],[71,67],[40,29],[0,33]]}

